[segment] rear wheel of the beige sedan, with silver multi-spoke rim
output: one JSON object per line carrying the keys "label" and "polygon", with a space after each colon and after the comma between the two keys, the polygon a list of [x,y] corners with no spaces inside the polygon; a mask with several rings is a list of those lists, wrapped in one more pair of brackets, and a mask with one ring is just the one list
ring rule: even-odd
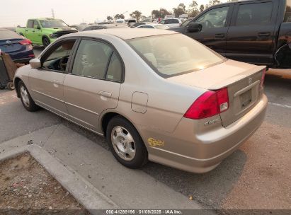
{"label": "rear wheel of the beige sedan, with silver multi-spoke rim", "polygon": [[[147,163],[147,148],[137,129],[121,116],[113,117],[106,128],[110,151],[127,168],[141,168]],[[131,138],[130,138],[131,136]]]}

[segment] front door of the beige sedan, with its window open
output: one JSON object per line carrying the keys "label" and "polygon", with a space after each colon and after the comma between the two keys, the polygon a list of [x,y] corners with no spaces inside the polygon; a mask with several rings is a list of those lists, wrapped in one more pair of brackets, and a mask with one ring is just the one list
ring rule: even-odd
{"label": "front door of the beige sedan, with its window open", "polygon": [[40,58],[42,67],[31,69],[29,83],[35,103],[67,117],[64,105],[64,77],[76,39],[67,39],[52,45]]}

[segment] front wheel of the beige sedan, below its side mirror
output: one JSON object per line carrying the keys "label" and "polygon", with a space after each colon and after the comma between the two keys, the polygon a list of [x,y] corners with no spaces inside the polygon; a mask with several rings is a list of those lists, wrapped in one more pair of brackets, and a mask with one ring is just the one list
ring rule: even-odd
{"label": "front wheel of the beige sedan, below its side mirror", "polygon": [[18,82],[17,91],[21,97],[21,103],[26,110],[29,112],[35,112],[40,109],[38,105],[35,105],[35,102],[33,101],[33,98],[31,98],[23,81]]}

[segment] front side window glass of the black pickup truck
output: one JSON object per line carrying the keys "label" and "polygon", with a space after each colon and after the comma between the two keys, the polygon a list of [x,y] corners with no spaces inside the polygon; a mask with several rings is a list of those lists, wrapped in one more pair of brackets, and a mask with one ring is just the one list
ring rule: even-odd
{"label": "front side window glass of the black pickup truck", "polygon": [[202,25],[202,31],[210,28],[223,28],[227,22],[228,11],[229,6],[212,9],[200,16],[195,23]]}

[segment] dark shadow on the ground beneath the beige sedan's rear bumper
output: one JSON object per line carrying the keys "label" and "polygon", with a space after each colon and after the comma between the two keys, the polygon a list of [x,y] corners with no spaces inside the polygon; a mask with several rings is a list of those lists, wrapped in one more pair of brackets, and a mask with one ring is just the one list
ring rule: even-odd
{"label": "dark shadow on the ground beneath the beige sedan's rear bumper", "polygon": [[239,180],[245,163],[246,153],[237,150],[209,173],[188,173],[152,162],[142,170],[173,190],[192,196],[207,209],[220,209],[228,192]]}

